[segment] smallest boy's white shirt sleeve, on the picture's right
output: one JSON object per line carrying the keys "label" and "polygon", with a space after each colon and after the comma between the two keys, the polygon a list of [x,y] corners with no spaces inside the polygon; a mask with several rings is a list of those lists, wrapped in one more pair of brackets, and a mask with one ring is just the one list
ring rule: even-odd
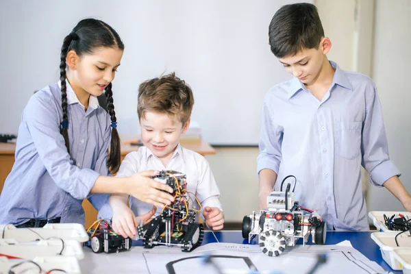
{"label": "smallest boy's white shirt sleeve, on the picture's right", "polygon": [[[210,208],[215,207],[223,211],[223,207],[221,206],[219,199],[220,190],[210,169],[210,164],[208,164],[206,158],[201,155],[198,156],[199,178],[196,190],[197,198],[199,199],[203,208],[209,206]],[[201,210],[201,216],[204,218],[203,210]]]}

